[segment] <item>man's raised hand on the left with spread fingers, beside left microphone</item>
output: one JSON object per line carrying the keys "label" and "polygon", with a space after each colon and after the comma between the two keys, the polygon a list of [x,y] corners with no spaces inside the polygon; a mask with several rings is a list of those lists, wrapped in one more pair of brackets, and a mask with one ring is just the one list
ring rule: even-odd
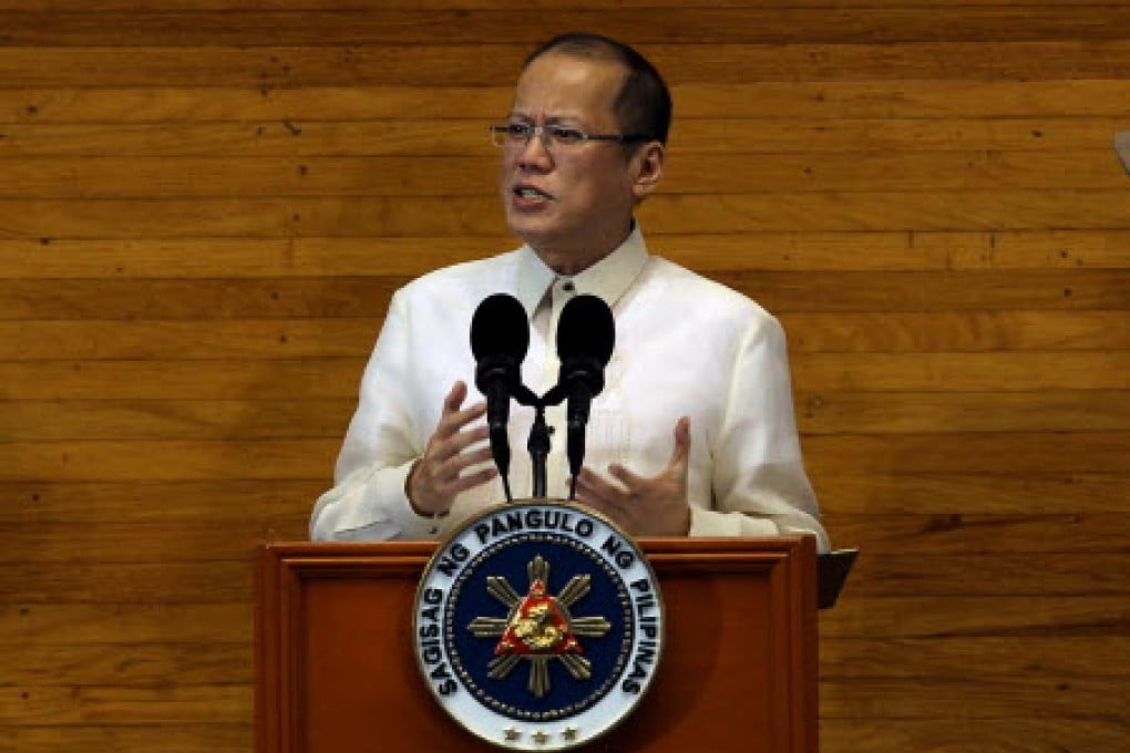
{"label": "man's raised hand on the left with spread fingers, beside left microphone", "polygon": [[488,436],[485,426],[467,428],[486,414],[486,403],[463,409],[466,399],[467,385],[457,382],[443,400],[440,423],[408,480],[408,502],[420,515],[446,514],[457,494],[498,475],[493,466],[462,475],[467,469],[490,459],[489,447],[468,449]]}

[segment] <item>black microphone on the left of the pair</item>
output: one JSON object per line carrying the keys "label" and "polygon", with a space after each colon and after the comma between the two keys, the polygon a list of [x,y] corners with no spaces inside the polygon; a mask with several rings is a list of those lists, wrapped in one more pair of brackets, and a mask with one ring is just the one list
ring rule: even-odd
{"label": "black microphone on the left of the pair", "polygon": [[510,492],[510,399],[522,384],[521,365],[530,347],[530,323],[516,298],[504,292],[487,296],[471,318],[471,352],[475,386],[487,399],[490,454],[502,476],[506,500]]}

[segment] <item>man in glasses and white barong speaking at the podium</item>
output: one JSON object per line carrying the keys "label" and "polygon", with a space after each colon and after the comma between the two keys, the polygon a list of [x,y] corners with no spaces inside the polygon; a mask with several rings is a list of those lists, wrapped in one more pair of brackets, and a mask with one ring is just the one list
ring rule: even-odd
{"label": "man in glasses and white barong speaking at the podium", "polygon": [[[503,292],[529,318],[521,380],[539,395],[560,375],[565,305],[591,295],[611,308],[616,349],[588,409],[577,502],[635,536],[807,533],[828,549],[781,325],[745,296],[649,255],[633,218],[662,177],[670,117],[662,78],[626,45],[570,34],[530,55],[508,116],[490,128],[506,221],[524,245],[393,296],[336,485],[314,506],[314,540],[435,539],[505,499],[486,404],[468,397],[472,316]],[[566,408],[545,418],[555,430],[547,496],[565,498]],[[512,446],[525,445],[533,421],[531,409],[511,411]],[[519,456],[513,488],[529,489],[531,473]]]}

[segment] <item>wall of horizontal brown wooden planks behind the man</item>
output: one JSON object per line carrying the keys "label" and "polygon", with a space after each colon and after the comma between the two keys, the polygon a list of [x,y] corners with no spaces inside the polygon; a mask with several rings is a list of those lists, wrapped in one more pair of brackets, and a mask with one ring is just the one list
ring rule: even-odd
{"label": "wall of horizontal brown wooden planks behind the man", "polygon": [[657,249],[790,333],[826,753],[1128,734],[1130,7],[0,0],[0,750],[249,753],[392,289],[511,247],[485,123],[585,28],[673,85]]}

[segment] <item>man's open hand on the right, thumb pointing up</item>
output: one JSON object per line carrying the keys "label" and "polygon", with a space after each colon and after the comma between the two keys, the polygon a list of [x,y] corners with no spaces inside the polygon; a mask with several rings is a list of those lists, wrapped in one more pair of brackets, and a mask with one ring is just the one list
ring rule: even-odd
{"label": "man's open hand on the right, thumb pointing up", "polygon": [[690,419],[684,415],[675,424],[675,452],[659,475],[636,475],[614,463],[608,473],[620,485],[585,467],[577,476],[576,501],[603,513],[633,536],[686,536],[690,531],[689,457]]}

